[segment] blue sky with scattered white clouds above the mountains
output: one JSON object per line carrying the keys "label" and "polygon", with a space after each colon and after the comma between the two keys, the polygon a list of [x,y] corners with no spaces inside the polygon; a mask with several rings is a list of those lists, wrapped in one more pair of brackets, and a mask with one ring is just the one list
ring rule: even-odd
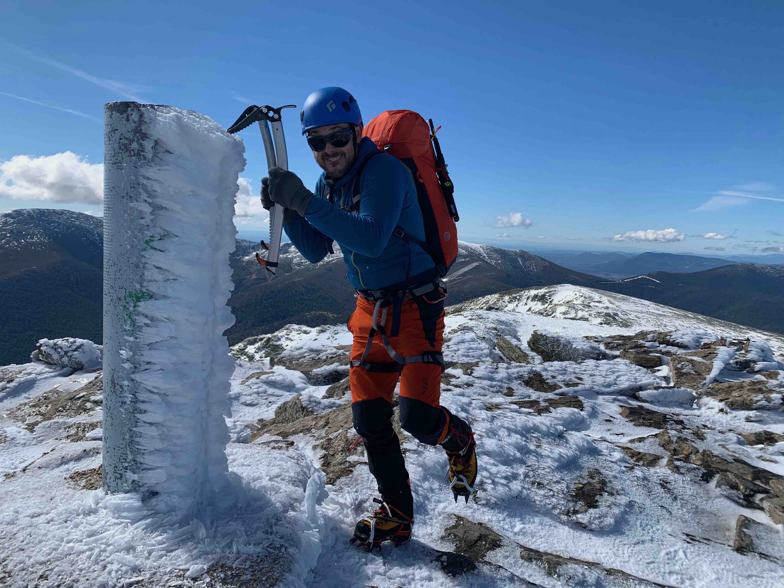
{"label": "blue sky with scattered white clouds above the mountains", "polygon": [[[4,2],[0,210],[100,214],[111,100],[229,125],[249,103],[342,85],[365,119],[410,108],[443,126],[465,240],[784,246],[784,4],[643,4]],[[289,166],[312,185],[297,113]],[[237,225],[262,234],[263,149],[243,136]]]}

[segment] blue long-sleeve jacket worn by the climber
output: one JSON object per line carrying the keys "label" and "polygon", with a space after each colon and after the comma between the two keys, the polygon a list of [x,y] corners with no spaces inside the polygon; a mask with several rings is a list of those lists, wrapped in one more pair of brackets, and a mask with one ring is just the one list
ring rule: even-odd
{"label": "blue long-sleeve jacket worn by the climber", "polygon": [[[349,172],[336,182],[322,173],[316,198],[304,218],[297,216],[284,225],[289,239],[310,263],[323,260],[332,241],[337,241],[348,267],[348,281],[354,288],[367,290],[398,284],[435,267],[419,245],[392,235],[399,226],[424,241],[425,227],[411,173],[392,155],[377,153],[376,143],[363,138]],[[350,204],[351,187],[360,169],[359,212],[345,212],[340,208]],[[330,193],[334,205],[327,199]]]}

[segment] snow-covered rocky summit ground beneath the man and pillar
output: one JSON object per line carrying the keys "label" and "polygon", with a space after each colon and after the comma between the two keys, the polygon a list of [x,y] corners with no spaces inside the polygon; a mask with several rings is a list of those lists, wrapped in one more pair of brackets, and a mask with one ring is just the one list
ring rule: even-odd
{"label": "snow-covered rocky summit ground beneath the man and pillar", "polygon": [[[784,525],[760,500],[784,477],[782,338],[712,320],[573,286],[453,308],[442,401],[476,432],[477,492],[455,503],[443,451],[403,434],[416,524],[381,554],[347,543],[376,488],[361,446],[347,452],[343,327],[233,348],[227,456],[247,503],[187,524],[85,489],[100,372],[2,368],[0,584],[782,586]],[[534,332],[550,347],[529,346]],[[544,361],[551,350],[583,359]],[[702,363],[696,392],[672,386],[673,369]],[[752,401],[764,409],[728,408],[724,383],[768,390]],[[745,554],[739,515],[753,525]]]}

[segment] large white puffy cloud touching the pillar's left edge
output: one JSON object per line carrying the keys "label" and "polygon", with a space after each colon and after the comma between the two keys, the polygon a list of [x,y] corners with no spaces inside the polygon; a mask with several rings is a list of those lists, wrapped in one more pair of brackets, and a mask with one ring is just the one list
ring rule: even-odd
{"label": "large white puffy cloud touching the pillar's left edge", "polygon": [[100,204],[103,163],[89,163],[71,151],[15,155],[0,163],[0,198]]}

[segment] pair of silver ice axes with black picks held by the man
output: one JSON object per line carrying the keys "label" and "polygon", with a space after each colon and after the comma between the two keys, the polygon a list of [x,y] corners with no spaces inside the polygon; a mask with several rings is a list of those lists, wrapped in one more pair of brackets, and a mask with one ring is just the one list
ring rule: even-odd
{"label": "pair of silver ice axes with black picks held by the man", "polygon": [[[289,155],[286,154],[286,138],[283,134],[283,119],[281,118],[281,111],[284,108],[296,108],[296,106],[287,104],[286,106],[274,108],[271,106],[256,106],[254,104],[245,108],[245,111],[240,114],[240,118],[234,121],[234,125],[227,129],[227,132],[233,135],[235,132],[247,129],[254,122],[258,122],[261,130],[261,140],[264,143],[264,153],[267,154],[267,169],[274,167],[289,169]],[[271,133],[270,125],[272,125]],[[261,259],[259,253],[256,252],[256,261],[267,270],[265,274],[267,281],[270,281],[278,270],[278,255],[280,254],[282,237],[283,207],[276,204],[270,210],[270,243],[267,245],[267,243],[261,241],[261,246],[267,249],[267,259]]]}

